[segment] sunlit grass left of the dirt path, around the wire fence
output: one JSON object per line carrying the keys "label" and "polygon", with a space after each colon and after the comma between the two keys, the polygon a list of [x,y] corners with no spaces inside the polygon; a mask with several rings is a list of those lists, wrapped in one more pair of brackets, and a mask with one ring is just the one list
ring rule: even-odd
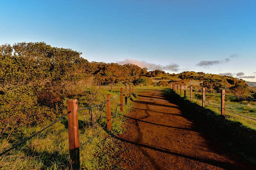
{"label": "sunlit grass left of the dirt path, around the wire fence", "polygon": [[[116,86],[110,91],[111,86],[102,86],[88,88],[90,91],[87,96],[76,95],[73,99],[78,99],[78,109],[86,108],[91,105],[103,103],[106,100],[106,94],[111,95],[111,99],[120,93],[120,87]],[[124,86],[123,86],[124,88]],[[129,91],[128,91],[129,95]],[[134,100],[134,97],[131,97]],[[114,115],[120,108],[120,97],[111,100],[111,113]],[[123,96],[124,101],[124,96]],[[128,100],[128,106],[131,101]],[[106,128],[100,131],[90,142],[80,147],[80,166],[81,169],[97,169],[99,167],[96,152],[108,144],[109,133],[119,134],[124,131],[121,124],[125,121],[122,116],[130,107],[124,105],[124,112],[118,112],[116,117],[112,118],[112,129]],[[0,169],[2,170],[21,170],[21,169],[57,169],[61,163],[60,169],[68,169],[68,117],[55,123],[50,128],[44,130],[35,137],[32,137],[17,148],[0,157]],[[79,124],[79,143],[82,144],[93,137],[106,124],[106,107],[95,107],[94,109],[78,112]],[[51,122],[49,122],[50,124]],[[9,137],[0,138],[0,153],[12,147],[37,131],[43,129],[43,126],[23,127],[20,134],[11,134]]]}

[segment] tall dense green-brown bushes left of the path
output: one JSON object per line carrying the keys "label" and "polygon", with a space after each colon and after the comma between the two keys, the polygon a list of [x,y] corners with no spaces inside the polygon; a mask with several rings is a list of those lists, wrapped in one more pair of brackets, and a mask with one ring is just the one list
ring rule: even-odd
{"label": "tall dense green-brown bushes left of the path", "polygon": [[62,114],[67,82],[87,78],[91,69],[80,55],[44,42],[0,46],[0,136]]}

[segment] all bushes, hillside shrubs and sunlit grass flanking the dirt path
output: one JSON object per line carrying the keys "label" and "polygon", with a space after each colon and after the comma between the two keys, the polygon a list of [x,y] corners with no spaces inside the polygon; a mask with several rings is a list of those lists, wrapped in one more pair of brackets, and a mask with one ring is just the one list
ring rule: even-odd
{"label": "all bushes, hillside shrubs and sunlit grass flanking the dirt path", "polygon": [[[256,99],[256,89],[242,79],[230,76],[183,71],[180,74],[161,70],[148,71],[131,63],[88,62],[80,52],[72,49],[51,47],[44,42],[20,42],[12,46],[0,46],[0,153],[41,130],[67,114],[68,99],[78,99],[78,107],[91,107],[119,94],[126,83],[138,88],[169,87],[172,84],[193,85],[195,90],[220,93],[226,89],[226,109],[256,119],[255,101],[239,100],[238,97]],[[102,87],[99,88],[99,83]],[[110,84],[113,83],[112,90]],[[189,92],[187,91],[187,95]],[[194,93],[200,100],[200,93]],[[135,100],[136,94],[131,97]],[[117,97],[112,102],[112,113],[118,111]],[[206,94],[207,102],[220,106],[220,95]],[[207,107],[211,108],[210,105]],[[129,107],[124,108],[124,113]],[[218,108],[211,108],[220,113]],[[97,157],[97,148],[110,140],[109,133],[122,133],[122,114],[115,117],[111,132],[102,130],[90,143],[80,148],[81,167],[103,167]],[[226,112],[226,119],[241,122],[255,129],[255,121]],[[79,112],[79,139],[83,143],[106,123],[104,106]],[[0,156],[0,169],[61,169],[68,167],[67,117],[28,140],[16,149]],[[86,148],[86,149],[85,149]],[[108,158],[105,158],[106,160]],[[108,165],[108,164],[106,164]],[[109,164],[110,165],[110,164]],[[112,164],[111,164],[112,165]],[[121,167],[119,167],[121,168]]]}

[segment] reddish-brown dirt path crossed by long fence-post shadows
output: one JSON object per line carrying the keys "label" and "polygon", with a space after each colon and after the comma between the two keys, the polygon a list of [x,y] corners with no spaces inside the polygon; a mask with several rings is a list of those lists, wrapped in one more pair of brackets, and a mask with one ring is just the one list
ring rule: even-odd
{"label": "reddish-brown dirt path crossed by long fence-post shadows", "polygon": [[125,115],[127,131],[116,137],[127,152],[120,153],[127,169],[256,169],[224,151],[211,136],[198,130],[182,108],[159,90],[137,92],[133,111]]}

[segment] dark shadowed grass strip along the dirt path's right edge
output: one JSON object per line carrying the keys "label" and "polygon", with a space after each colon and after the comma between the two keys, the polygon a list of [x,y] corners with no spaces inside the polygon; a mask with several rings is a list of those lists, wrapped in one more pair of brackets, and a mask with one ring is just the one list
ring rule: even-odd
{"label": "dark shadowed grass strip along the dirt path's right edge", "polygon": [[[248,161],[248,164],[256,165],[256,141],[254,140],[256,130],[252,125],[254,120],[247,120],[250,125],[246,126],[244,121],[235,120],[234,115],[221,116],[218,108],[210,106],[203,108],[201,101],[193,99],[193,102],[190,102],[188,100],[190,97],[184,100],[183,96],[175,93],[170,88],[164,89],[163,93],[170,102],[182,108],[183,116],[195,124],[196,132],[201,133],[202,137],[212,140],[223,151],[244,158]],[[189,93],[188,95],[190,96]],[[214,102],[214,100],[218,96],[213,95],[211,97],[208,96],[207,102],[217,105],[219,101]],[[210,98],[211,100],[209,100]],[[236,106],[232,107],[235,108]]]}

